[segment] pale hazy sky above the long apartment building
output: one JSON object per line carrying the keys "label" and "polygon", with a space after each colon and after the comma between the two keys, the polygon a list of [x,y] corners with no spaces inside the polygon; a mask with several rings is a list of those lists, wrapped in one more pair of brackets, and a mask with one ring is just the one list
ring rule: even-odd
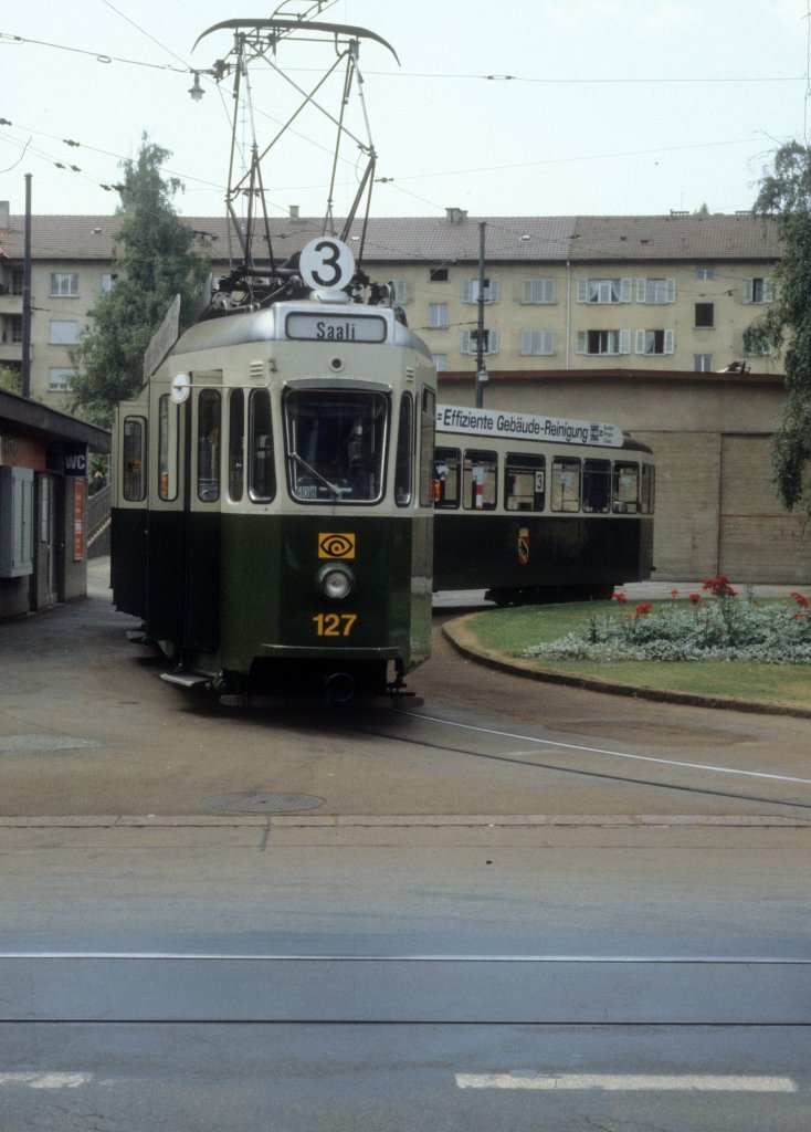
{"label": "pale hazy sky above the long apartment building", "polygon": [[[230,51],[213,25],[291,15],[309,0],[29,0],[0,5],[0,200],[35,214],[110,214],[144,134],[183,182],[174,207],[225,212]],[[811,0],[327,0],[321,20],[368,28],[363,98],[347,121],[371,140],[374,216],[638,215],[750,208],[782,143],[811,131]],[[312,84],[331,48],[285,42],[278,65]],[[189,96],[199,69],[205,95]],[[490,77],[488,77],[490,76]],[[290,113],[290,86],[251,71],[235,166]],[[325,87],[337,112],[339,92]],[[365,105],[365,117],[364,117]],[[326,207],[331,134],[309,111],[264,166],[271,215]],[[331,129],[331,127],[330,127]],[[68,142],[71,144],[69,145]],[[78,144],[72,144],[78,143]],[[339,164],[335,212],[359,177]],[[60,168],[63,166],[63,168]],[[71,168],[75,166],[75,168]]]}

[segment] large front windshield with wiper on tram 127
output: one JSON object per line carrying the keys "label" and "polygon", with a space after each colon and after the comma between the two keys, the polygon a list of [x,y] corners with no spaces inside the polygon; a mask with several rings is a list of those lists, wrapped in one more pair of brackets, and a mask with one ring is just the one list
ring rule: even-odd
{"label": "large front windshield with wiper on tram 127", "polygon": [[383,495],[388,398],[294,389],[285,397],[287,486],[297,503],[377,503]]}

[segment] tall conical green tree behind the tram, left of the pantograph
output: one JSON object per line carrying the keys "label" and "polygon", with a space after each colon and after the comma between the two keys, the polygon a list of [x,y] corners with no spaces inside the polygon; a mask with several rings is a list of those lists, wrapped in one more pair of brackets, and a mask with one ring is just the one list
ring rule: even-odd
{"label": "tall conical green tree behind the tram, left of the pantograph", "polygon": [[161,177],[169,151],[141,138],[135,162],[127,161],[115,237],[115,281],[88,311],[86,331],[72,352],[76,376],[70,410],[107,428],[113,408],[144,384],[144,352],[175,294],[181,329],[191,325],[209,263],[195,251],[195,233],[172,206],[180,180]]}

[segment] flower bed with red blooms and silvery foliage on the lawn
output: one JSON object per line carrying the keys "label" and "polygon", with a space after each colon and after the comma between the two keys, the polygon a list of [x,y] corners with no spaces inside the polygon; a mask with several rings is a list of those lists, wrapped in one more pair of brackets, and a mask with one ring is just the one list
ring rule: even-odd
{"label": "flower bed with red blooms and silvery foliage on the lawn", "polygon": [[[558,641],[532,645],[525,657],[555,660],[747,661],[811,664],[811,601],[795,591],[788,601],[739,597],[725,574],[707,578],[701,593],[630,608],[614,593],[620,611],[593,615],[587,626]],[[625,608],[629,607],[629,608]]]}

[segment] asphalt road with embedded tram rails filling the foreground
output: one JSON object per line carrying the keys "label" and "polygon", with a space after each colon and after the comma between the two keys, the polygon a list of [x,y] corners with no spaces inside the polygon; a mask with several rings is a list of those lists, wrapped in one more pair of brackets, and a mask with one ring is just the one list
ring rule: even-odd
{"label": "asphalt road with embedded tram rails filling the foreground", "polygon": [[419,707],[224,710],[103,571],[0,628],[3,1132],[811,1126],[808,720],[439,632]]}

